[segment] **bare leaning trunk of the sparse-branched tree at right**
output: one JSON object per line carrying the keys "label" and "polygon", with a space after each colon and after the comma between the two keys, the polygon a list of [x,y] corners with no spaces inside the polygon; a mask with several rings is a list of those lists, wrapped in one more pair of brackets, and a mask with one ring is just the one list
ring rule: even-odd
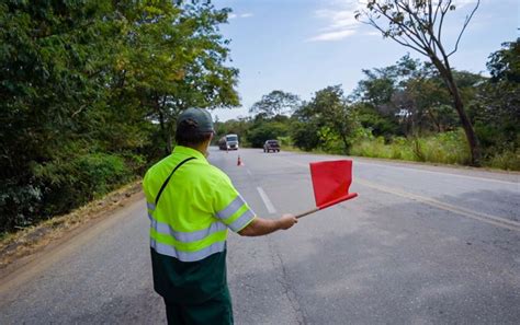
{"label": "bare leaning trunk of the sparse-branched tree at right", "polygon": [[448,63],[446,59],[445,65],[443,65],[443,62],[441,62],[441,60],[437,56],[430,56],[430,59],[439,70],[441,78],[446,83],[448,90],[450,91],[450,94],[453,97],[453,106],[455,107],[455,111],[459,114],[462,128],[464,129],[464,134],[466,135],[467,144],[470,146],[470,153],[472,160],[471,164],[473,166],[478,166],[481,164],[481,148],[478,146],[478,139],[476,138],[473,125],[470,118],[467,117],[466,111],[464,109],[464,103],[462,102],[461,93],[459,92],[459,88],[453,78],[450,65]]}

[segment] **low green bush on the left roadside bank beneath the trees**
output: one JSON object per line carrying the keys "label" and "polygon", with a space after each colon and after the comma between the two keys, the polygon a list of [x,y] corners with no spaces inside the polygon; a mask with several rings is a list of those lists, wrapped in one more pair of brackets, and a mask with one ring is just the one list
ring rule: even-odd
{"label": "low green bush on the left roadside bank beneath the trees", "polygon": [[139,155],[128,155],[125,160],[106,153],[33,164],[34,177],[30,184],[4,182],[0,186],[0,231],[69,212],[127,183],[143,165]]}

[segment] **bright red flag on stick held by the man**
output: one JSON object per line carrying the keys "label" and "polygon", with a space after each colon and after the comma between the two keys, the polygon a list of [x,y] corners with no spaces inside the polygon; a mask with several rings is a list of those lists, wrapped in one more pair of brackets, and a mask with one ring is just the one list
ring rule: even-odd
{"label": "bright red flag on stick held by the man", "polygon": [[352,161],[337,160],[310,163],[316,207],[325,209],[358,196],[349,193],[352,183]]}

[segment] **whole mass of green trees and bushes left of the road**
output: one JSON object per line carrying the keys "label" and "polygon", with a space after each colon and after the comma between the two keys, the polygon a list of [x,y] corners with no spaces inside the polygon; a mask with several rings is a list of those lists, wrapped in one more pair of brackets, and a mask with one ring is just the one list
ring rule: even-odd
{"label": "whole mass of green trees and bushes left of the road", "polygon": [[176,3],[0,3],[0,230],[143,174],[182,109],[238,104],[229,10]]}

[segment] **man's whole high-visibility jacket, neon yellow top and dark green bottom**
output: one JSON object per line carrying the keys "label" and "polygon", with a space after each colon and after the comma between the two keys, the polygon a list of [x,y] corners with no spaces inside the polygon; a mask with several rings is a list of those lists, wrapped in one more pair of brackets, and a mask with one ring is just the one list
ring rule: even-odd
{"label": "man's whole high-visibility jacket, neon yellow top and dark green bottom", "polygon": [[[165,181],[189,158],[156,204]],[[148,170],[143,187],[156,291],[170,301],[201,302],[227,288],[227,229],[239,232],[256,218],[229,177],[197,150],[178,146]]]}

